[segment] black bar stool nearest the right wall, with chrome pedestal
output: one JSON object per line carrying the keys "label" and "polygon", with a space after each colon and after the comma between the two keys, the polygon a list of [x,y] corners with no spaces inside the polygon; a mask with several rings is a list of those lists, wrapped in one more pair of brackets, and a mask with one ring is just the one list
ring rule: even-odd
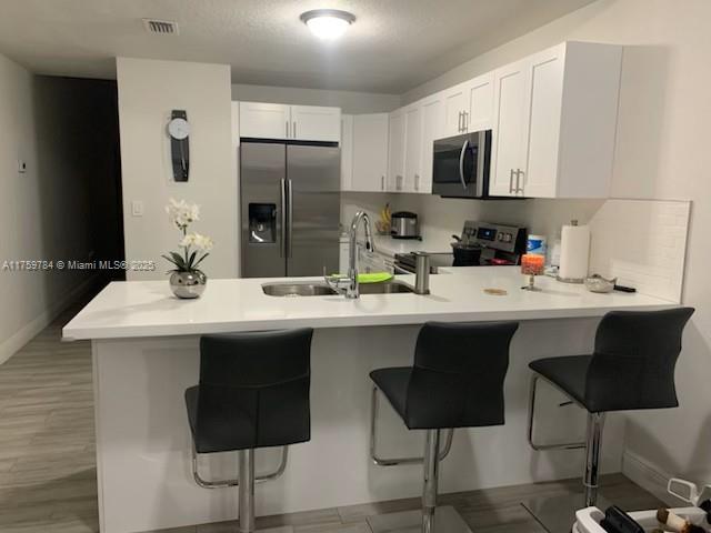
{"label": "black bar stool nearest the right wall, with chrome pedestal", "polygon": [[[533,371],[528,428],[531,447],[537,451],[585,449],[584,502],[573,503],[577,507],[583,503],[584,506],[595,505],[598,500],[605,413],[679,405],[674,366],[681,352],[684,325],[693,311],[691,308],[612,311],[598,325],[592,354],[545,358],[529,364]],[[585,442],[537,444],[533,441],[535,386],[541,379],[588,411]],[[551,506],[537,502],[529,510],[549,531],[570,531],[574,509],[561,510],[559,504]]]}

